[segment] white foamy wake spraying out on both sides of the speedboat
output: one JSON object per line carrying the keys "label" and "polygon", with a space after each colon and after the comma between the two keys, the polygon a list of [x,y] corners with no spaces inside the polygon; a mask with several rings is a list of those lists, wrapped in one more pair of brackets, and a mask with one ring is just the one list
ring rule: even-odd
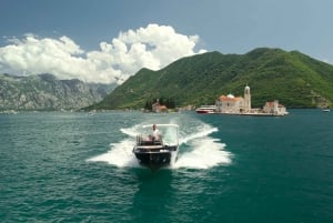
{"label": "white foamy wake spraying out on both sides of the speedboat", "polygon": [[[189,119],[189,118],[188,118]],[[171,163],[171,169],[210,169],[216,165],[231,163],[232,154],[225,151],[225,144],[220,139],[210,136],[218,132],[218,128],[211,126],[196,119],[172,120],[171,123],[180,125],[180,148],[178,160]],[[120,129],[128,135],[124,140],[111,143],[111,150],[104,154],[89,159],[93,162],[107,162],[118,168],[139,168],[138,160],[132,153],[135,136],[141,123],[127,129]]]}

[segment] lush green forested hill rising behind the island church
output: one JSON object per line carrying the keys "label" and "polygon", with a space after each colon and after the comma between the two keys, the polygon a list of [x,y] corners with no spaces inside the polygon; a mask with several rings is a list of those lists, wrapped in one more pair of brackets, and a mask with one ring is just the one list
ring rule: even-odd
{"label": "lush green forested hill rising behind the island church", "polygon": [[245,84],[253,107],[274,99],[287,108],[326,107],[333,102],[333,65],[281,49],[208,52],[159,71],[142,69],[90,109],[140,109],[153,98],[173,99],[178,107],[212,104],[221,94],[243,95]]}

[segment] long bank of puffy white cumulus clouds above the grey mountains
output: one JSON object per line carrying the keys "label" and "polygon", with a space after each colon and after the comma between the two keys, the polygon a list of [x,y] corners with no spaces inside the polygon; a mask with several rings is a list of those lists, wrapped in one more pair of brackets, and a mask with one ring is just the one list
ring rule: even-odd
{"label": "long bank of puffy white cumulus clouds above the grey mountains", "polygon": [[120,32],[112,41],[101,42],[100,49],[88,52],[68,37],[26,34],[0,48],[0,72],[52,73],[60,79],[122,83],[141,68],[159,70],[182,57],[205,52],[195,52],[198,42],[198,36],[184,36],[159,24]]}

